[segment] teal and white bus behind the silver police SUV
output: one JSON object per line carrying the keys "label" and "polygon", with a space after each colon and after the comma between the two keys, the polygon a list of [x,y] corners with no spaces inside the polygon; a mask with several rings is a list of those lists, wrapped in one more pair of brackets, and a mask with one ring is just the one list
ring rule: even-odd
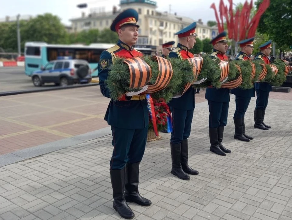
{"label": "teal and white bus behind the silver police SUV", "polygon": [[[82,44],[47,44],[46,42],[25,43],[25,74],[31,74],[40,70],[51,60],[58,57],[71,57],[72,59],[86,60],[91,69],[95,69],[99,63],[100,54],[115,44],[92,43],[88,46]],[[137,48],[146,55],[151,54],[150,48]],[[98,70],[92,73],[92,77],[98,76]]]}

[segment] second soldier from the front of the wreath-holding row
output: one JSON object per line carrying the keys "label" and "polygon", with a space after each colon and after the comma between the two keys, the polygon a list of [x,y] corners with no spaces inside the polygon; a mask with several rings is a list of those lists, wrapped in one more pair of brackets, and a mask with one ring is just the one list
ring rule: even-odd
{"label": "second soldier from the front of the wreath-holding row", "polygon": [[[188,59],[194,57],[189,49],[196,42],[196,22],[177,32],[179,43],[177,48],[169,53],[169,58]],[[183,180],[189,180],[188,174],[197,175],[198,171],[188,165],[188,137],[195,109],[195,90],[191,86],[183,95],[173,97],[169,103],[172,113],[172,133],[170,150],[172,159],[171,173]]]}

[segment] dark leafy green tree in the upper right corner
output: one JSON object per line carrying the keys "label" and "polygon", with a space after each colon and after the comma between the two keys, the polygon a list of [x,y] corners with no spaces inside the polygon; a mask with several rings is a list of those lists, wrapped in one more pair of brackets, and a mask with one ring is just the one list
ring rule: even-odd
{"label": "dark leafy green tree in the upper right corner", "polygon": [[[259,8],[262,0],[255,2]],[[261,34],[268,34],[281,51],[289,49],[292,42],[292,0],[273,0],[270,6],[261,16],[258,31]]]}

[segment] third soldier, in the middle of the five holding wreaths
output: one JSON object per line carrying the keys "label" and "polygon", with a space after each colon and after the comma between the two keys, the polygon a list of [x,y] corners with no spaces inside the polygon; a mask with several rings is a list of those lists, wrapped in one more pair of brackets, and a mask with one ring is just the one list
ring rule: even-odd
{"label": "third soldier, in the middle of the five holding wreaths", "polygon": [[[226,32],[217,35],[210,43],[213,44],[213,53],[211,57],[219,58],[228,61],[225,55],[228,44],[226,39]],[[225,79],[227,80],[227,79]],[[231,153],[231,150],[226,149],[222,145],[224,127],[227,124],[228,108],[229,108],[229,89],[213,88],[208,86],[206,89],[205,99],[208,100],[209,105],[209,137],[210,137],[210,151],[215,154],[225,156],[226,153]]]}

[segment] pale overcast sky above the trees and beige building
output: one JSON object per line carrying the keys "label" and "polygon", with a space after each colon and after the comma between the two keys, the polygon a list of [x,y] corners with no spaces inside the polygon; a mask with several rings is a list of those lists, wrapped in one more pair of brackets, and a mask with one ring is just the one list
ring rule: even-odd
{"label": "pale overcast sky above the trees and beige building", "polygon": [[[233,0],[235,4],[245,0]],[[88,14],[89,8],[105,7],[105,11],[110,11],[113,5],[118,6],[120,0],[12,0],[1,1],[0,18],[5,16],[14,17],[20,15],[38,15],[50,12],[58,15],[62,23],[69,25],[71,18],[81,16],[81,12]],[[215,20],[214,10],[210,5],[214,2],[218,10],[219,0],[157,0],[157,10],[164,12],[169,11],[171,5],[171,12],[176,12],[177,15],[190,17],[194,20],[202,19],[204,24],[208,20]],[[227,0],[224,0],[228,4]],[[250,2],[250,0],[249,0]],[[76,5],[80,3],[87,3],[87,9],[79,9]]]}

